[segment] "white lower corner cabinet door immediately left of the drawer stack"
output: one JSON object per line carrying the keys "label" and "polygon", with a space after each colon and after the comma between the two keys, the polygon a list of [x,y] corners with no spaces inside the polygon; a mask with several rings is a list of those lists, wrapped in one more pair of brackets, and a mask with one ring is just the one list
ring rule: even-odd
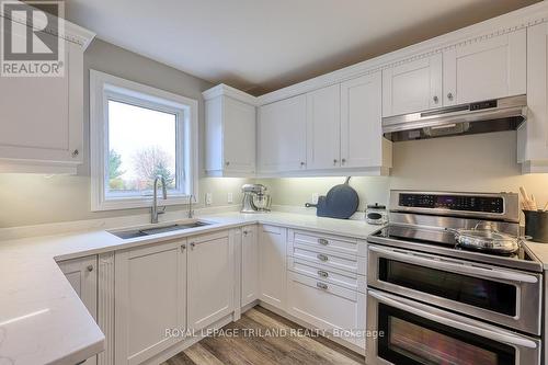
{"label": "white lower corner cabinet door immediately left of the drawer stack", "polygon": [[262,226],[259,244],[260,299],[276,308],[285,309],[287,230]]}

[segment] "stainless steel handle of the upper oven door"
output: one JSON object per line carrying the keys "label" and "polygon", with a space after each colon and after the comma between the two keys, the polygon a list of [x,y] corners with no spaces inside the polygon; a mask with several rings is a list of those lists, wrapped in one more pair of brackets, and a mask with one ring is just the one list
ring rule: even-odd
{"label": "stainless steel handle of the upper oven door", "polygon": [[506,280],[511,282],[522,282],[522,283],[538,283],[538,278],[533,275],[527,275],[527,274],[521,274],[521,273],[514,273],[511,271],[503,271],[503,270],[496,270],[496,269],[482,269],[478,266],[472,266],[472,265],[463,265],[463,264],[456,264],[456,263],[450,263],[447,261],[441,261],[441,260],[432,260],[432,259],[425,259],[425,258],[420,258],[416,256],[412,253],[400,253],[400,252],[395,252],[391,250],[386,250],[381,249],[378,247],[369,246],[369,250],[373,252],[377,252],[383,254],[383,256],[386,256],[388,259],[395,259],[395,260],[401,260],[404,262],[409,263],[414,263],[419,265],[425,265],[427,267],[434,267],[434,269],[441,269],[441,270],[446,270],[446,271],[453,271],[459,274],[465,274],[465,275],[479,275],[483,277],[490,277],[494,280]]}

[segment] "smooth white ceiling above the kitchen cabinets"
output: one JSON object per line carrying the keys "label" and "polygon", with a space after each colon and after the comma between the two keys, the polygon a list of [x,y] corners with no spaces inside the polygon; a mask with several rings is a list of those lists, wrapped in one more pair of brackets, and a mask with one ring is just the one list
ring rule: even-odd
{"label": "smooth white ceiling above the kitchen cabinets", "polygon": [[67,0],[104,41],[261,94],[538,0]]}

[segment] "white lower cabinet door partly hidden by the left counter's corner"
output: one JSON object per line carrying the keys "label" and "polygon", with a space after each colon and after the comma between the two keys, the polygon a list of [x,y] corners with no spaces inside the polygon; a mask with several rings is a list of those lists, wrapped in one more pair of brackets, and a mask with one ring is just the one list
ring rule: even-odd
{"label": "white lower cabinet door partly hidden by the left counter's corner", "polygon": [[[87,256],[58,263],[76,294],[80,297],[88,311],[98,320],[98,258]],[[98,358],[88,358],[84,365],[96,365]]]}

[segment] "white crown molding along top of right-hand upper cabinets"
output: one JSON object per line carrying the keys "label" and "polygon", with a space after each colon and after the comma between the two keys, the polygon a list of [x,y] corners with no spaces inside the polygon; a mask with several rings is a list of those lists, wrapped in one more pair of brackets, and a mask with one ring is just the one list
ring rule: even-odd
{"label": "white crown molding along top of right-hand upper cabinets", "polygon": [[543,1],[513,12],[489,19],[481,23],[439,35],[437,37],[324,73],[287,88],[283,88],[258,98],[258,105],[310,92],[317,89],[343,82],[359,76],[374,73],[399,64],[429,57],[446,49],[479,42],[493,36],[515,32],[548,21],[548,2]]}

